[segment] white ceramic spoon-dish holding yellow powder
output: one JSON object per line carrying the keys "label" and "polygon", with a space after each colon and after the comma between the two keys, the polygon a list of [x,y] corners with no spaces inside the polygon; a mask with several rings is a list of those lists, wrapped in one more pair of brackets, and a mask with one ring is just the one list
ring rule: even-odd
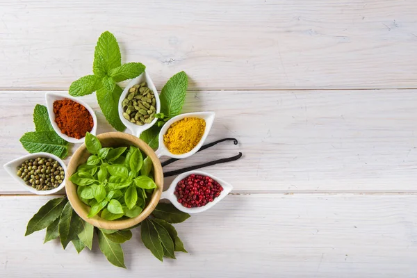
{"label": "white ceramic spoon-dish holding yellow powder", "polygon": [[[172,154],[165,146],[165,143],[163,142],[163,136],[165,133],[167,133],[167,130],[170,128],[171,124],[174,122],[177,122],[179,120],[182,120],[185,117],[198,117],[200,119],[204,119],[206,121],[206,129],[204,130],[204,134],[202,136],[202,139],[199,140],[198,144],[194,147],[194,149],[190,150],[190,152],[186,152],[185,154]],[[204,144],[204,141],[206,140],[208,133],[210,132],[211,126],[214,122],[215,113],[214,112],[195,112],[195,113],[186,113],[181,114],[176,117],[173,117],[169,121],[164,124],[161,131],[159,132],[159,147],[158,150],[156,150],[156,156],[170,156],[172,158],[187,158],[188,156],[192,156],[195,154]]]}

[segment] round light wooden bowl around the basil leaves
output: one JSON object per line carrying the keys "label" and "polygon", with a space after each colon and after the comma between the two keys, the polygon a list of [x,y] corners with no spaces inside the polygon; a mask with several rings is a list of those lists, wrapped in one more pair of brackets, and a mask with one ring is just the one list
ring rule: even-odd
{"label": "round light wooden bowl around the basil leaves", "polygon": [[76,213],[81,218],[83,218],[83,220],[95,227],[103,229],[127,229],[133,227],[134,225],[145,220],[145,218],[147,218],[152,213],[152,211],[154,211],[156,205],[159,202],[159,199],[161,199],[161,193],[163,190],[163,172],[161,162],[159,161],[158,157],[156,157],[154,150],[149,147],[147,143],[130,134],[122,132],[108,132],[99,134],[97,138],[100,140],[102,147],[129,147],[133,145],[138,147],[142,152],[145,152],[145,154],[147,154],[147,156],[149,156],[154,163],[154,180],[158,188],[154,190],[151,201],[147,207],[136,218],[113,221],[105,220],[104,218],[99,217],[99,215],[88,218],[87,215],[88,211],[90,211],[90,206],[87,206],[81,202],[78,195],[76,194],[77,186],[69,179],[72,174],[76,172],[76,168],[79,165],[85,163],[88,159],[88,156],[90,156],[90,153],[85,147],[85,144],[83,144],[81,147],[79,147],[79,149],[76,150],[67,167],[67,174],[65,175],[65,190],[67,192],[68,200],[70,201],[72,208],[74,208],[74,211],[76,211]]}

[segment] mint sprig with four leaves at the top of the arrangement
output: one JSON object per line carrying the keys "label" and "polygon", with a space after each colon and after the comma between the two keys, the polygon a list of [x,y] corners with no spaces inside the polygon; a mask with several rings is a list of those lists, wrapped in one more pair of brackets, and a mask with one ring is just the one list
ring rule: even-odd
{"label": "mint sprig with four leaves at the top of the arrangement", "polygon": [[125,126],[120,121],[118,103],[122,88],[117,82],[132,79],[145,72],[141,63],[122,65],[119,44],[115,36],[106,31],[102,33],[95,47],[92,71],[94,75],[83,76],[70,86],[70,95],[81,97],[97,93],[97,101],[106,120],[118,131]]}

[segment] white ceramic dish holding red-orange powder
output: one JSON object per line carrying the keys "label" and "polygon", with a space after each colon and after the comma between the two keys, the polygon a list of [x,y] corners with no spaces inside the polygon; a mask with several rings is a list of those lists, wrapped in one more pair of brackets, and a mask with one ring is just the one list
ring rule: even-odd
{"label": "white ceramic dish holding red-orange powder", "polygon": [[71,99],[72,101],[78,102],[79,104],[81,104],[82,106],[87,108],[88,112],[90,112],[90,115],[91,115],[92,121],[93,121],[92,130],[90,131],[90,133],[92,135],[95,135],[96,131],[97,131],[97,117],[96,117],[94,111],[92,110],[92,108],[80,99],[76,99],[75,97],[71,97],[67,94],[56,93],[56,92],[47,92],[45,94],[45,100],[47,101],[47,109],[48,109],[49,120],[51,120],[51,124],[52,124],[52,127],[54,128],[54,131],[58,134],[58,136],[60,136],[60,138],[63,138],[67,142],[74,143],[74,144],[83,143],[84,142],[84,137],[81,138],[81,139],[76,139],[76,138],[65,135],[64,133],[62,133],[60,131],[58,125],[55,122],[54,101],[64,100],[64,99]]}

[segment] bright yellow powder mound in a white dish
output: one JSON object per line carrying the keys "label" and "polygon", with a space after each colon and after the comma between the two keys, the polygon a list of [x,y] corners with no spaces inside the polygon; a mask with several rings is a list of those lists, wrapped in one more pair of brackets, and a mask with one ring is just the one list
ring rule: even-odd
{"label": "bright yellow powder mound in a white dish", "polygon": [[185,154],[197,146],[205,129],[206,121],[203,119],[186,117],[171,124],[163,136],[163,142],[172,154]]}

